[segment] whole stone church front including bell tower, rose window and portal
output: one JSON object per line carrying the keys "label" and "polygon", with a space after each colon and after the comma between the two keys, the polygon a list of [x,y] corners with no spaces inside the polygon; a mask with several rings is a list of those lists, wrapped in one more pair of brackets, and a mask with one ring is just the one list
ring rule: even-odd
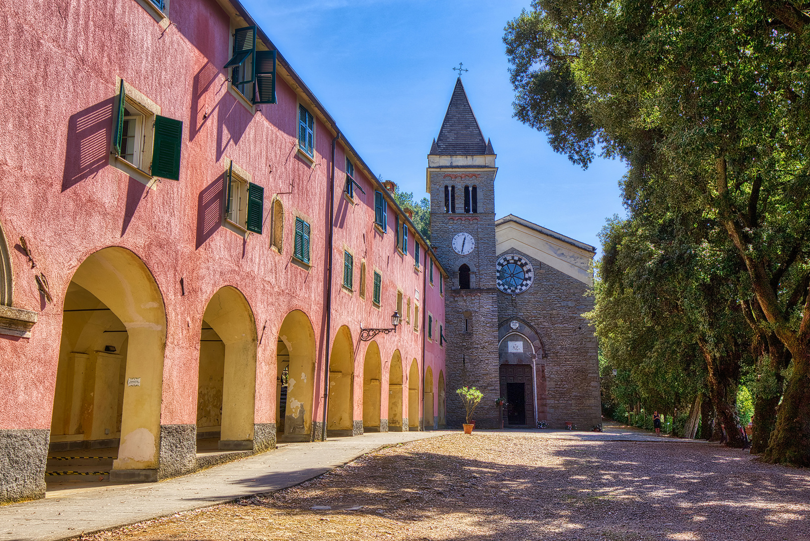
{"label": "whole stone church front including bell tower, rose window and portal", "polygon": [[582,313],[594,305],[595,247],[496,219],[495,160],[459,78],[427,168],[431,243],[450,272],[447,423],[464,422],[455,390],[475,386],[479,428],[591,428],[601,423],[599,360]]}

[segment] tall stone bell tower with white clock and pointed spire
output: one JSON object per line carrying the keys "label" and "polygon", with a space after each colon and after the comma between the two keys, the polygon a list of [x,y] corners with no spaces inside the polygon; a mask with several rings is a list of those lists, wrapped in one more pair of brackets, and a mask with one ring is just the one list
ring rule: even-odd
{"label": "tall stone bell tower with white clock and pointed spire", "polygon": [[[431,244],[450,273],[445,288],[447,422],[464,422],[456,390],[484,399],[475,426],[500,428],[498,301],[495,275],[495,151],[484,139],[459,77],[428,154]],[[438,284],[436,284],[438,287]]]}

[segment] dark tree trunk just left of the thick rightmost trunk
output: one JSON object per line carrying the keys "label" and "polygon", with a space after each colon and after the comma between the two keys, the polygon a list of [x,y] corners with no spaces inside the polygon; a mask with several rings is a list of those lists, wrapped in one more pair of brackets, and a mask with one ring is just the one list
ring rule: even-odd
{"label": "dark tree trunk just left of the thick rightmost trunk", "polygon": [[[767,363],[760,367],[760,381],[757,394],[754,396],[753,433],[751,435],[751,453],[761,454],[768,449],[770,434],[776,427],[776,412],[782,398],[782,369],[787,368],[790,351],[771,333],[765,342]],[[765,378],[765,381],[762,380]]]}

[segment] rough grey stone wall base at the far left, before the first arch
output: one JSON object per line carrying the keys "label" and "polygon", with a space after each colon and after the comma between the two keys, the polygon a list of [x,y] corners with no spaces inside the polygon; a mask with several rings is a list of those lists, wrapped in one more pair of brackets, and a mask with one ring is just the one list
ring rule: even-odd
{"label": "rough grey stone wall base at the far left, before the first arch", "polygon": [[45,497],[47,428],[0,430],[0,504]]}

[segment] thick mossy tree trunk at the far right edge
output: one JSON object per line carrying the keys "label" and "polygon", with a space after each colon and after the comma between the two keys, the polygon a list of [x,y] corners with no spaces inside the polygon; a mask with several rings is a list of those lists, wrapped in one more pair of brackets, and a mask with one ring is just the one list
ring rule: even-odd
{"label": "thick mossy tree trunk at the far right edge", "polygon": [[771,432],[764,460],[778,464],[810,466],[810,348],[793,353],[793,369],[778,407],[776,428]]}

